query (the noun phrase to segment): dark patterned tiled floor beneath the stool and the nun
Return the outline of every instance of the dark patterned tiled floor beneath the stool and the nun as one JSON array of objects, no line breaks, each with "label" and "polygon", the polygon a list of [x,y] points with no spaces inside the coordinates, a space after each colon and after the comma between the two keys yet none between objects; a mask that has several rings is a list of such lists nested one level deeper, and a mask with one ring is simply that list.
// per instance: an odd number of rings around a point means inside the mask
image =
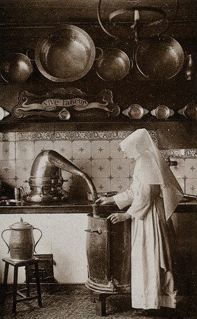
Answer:
[{"label": "dark patterned tiled floor beneath the stool and the nun", "polygon": [[96,316],[95,304],[89,299],[89,291],[85,285],[54,285],[42,286],[43,308],[39,308],[36,300],[17,304],[16,315],[12,314],[11,296],[6,299],[6,304],[1,306],[0,318],[20,319],[195,319],[197,309],[194,309],[194,300],[185,299],[175,313],[168,311],[154,311],[154,313],[138,314],[131,309],[128,295],[110,296],[106,299],[106,315]]}]

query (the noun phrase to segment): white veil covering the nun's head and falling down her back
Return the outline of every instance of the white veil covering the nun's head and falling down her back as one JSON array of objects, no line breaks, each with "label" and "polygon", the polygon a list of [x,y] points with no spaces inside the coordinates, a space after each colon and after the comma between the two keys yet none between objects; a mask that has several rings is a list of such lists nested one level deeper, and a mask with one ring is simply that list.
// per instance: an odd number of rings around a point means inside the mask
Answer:
[{"label": "white veil covering the nun's head and falling down her back", "polygon": [[128,157],[141,157],[140,176],[143,182],[161,185],[167,221],[182,199],[183,192],[160,150],[144,128],[131,133],[119,145]]}]

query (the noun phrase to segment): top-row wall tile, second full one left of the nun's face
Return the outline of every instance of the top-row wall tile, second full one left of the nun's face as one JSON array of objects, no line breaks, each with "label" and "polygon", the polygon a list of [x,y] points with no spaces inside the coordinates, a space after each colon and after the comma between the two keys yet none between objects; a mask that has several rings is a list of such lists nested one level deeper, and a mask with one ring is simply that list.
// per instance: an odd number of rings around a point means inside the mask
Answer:
[{"label": "top-row wall tile, second full one left of the nun's face", "polygon": [[90,141],[73,141],[73,158],[90,158],[91,142]]}]

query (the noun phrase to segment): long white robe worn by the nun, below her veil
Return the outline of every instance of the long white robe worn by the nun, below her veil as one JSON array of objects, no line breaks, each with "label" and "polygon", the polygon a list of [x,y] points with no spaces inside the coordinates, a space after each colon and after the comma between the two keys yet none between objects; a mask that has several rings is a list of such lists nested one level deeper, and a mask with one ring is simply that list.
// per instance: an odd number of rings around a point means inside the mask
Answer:
[{"label": "long white robe worn by the nun, below her veil", "polygon": [[160,185],[140,178],[140,160],[129,190],[114,196],[120,210],[130,205],[131,306],[136,309],[175,308],[176,290],[170,258],[168,228]]}]

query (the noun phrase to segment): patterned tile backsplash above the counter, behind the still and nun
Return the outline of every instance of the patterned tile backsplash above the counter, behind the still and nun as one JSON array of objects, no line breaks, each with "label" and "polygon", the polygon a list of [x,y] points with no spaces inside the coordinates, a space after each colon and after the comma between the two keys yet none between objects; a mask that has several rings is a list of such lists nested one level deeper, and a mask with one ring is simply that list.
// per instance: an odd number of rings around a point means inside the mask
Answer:
[{"label": "patterned tile backsplash above the counter, behind the still and nun", "polygon": [[[0,178],[11,187],[23,186],[29,191],[34,158],[41,150],[52,149],[71,160],[94,181],[98,192],[123,191],[132,181],[134,163],[125,159],[119,143],[130,131],[96,132],[8,132],[0,133]],[[157,132],[149,131],[157,143]],[[197,195],[197,150],[161,150],[164,157],[177,161],[171,169],[186,194]],[[85,182],[62,170],[68,179],[64,189],[71,187],[73,194],[84,196]]]}]

